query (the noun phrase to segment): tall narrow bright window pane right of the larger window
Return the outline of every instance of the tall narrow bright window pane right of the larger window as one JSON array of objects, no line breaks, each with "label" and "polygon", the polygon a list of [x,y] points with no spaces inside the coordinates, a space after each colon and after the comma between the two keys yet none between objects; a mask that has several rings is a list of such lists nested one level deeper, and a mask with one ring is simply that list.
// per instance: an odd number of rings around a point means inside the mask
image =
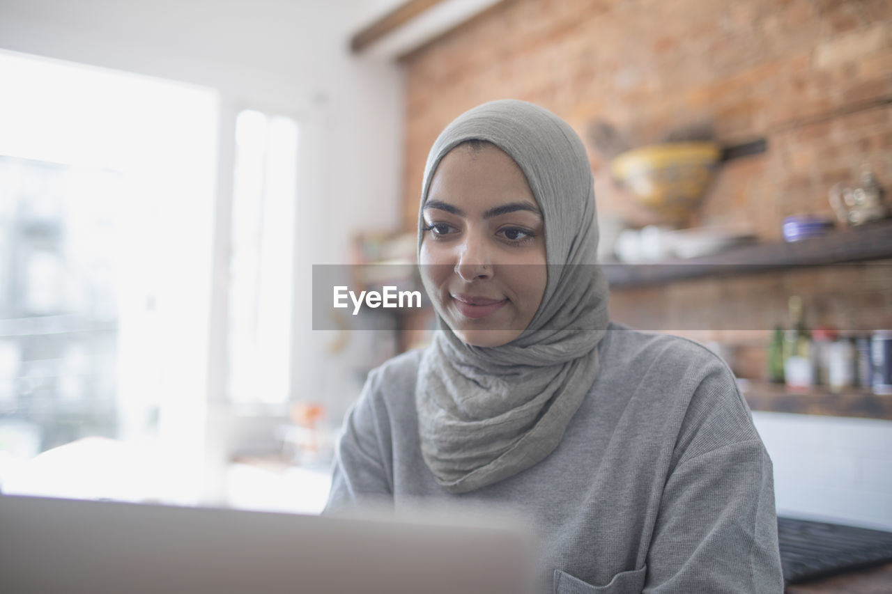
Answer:
[{"label": "tall narrow bright window pane right of the larger window", "polygon": [[228,399],[289,396],[298,128],[241,111],[235,120],[228,311]]}]

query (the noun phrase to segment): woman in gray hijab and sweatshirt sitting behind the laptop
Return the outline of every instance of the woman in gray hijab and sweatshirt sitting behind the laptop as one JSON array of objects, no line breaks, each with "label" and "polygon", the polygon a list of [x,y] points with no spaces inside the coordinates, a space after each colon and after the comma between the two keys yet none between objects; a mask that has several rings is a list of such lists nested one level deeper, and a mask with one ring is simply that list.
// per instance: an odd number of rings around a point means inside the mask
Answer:
[{"label": "woman in gray hijab and sweatshirt sitting behind the laptop", "polygon": [[439,330],[368,376],[327,508],[513,504],[556,592],[780,592],[747,405],[698,343],[609,322],[573,129],[531,103],[467,111],[431,149],[418,228]]}]

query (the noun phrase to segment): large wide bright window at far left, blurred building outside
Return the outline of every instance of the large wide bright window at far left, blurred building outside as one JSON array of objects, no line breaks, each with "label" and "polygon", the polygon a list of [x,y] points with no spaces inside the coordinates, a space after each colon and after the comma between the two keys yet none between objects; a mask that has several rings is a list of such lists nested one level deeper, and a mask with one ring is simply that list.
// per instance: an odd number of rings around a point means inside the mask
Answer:
[{"label": "large wide bright window at far left, blurred building outside", "polygon": [[217,93],[11,53],[0,79],[3,490],[194,501]]}]

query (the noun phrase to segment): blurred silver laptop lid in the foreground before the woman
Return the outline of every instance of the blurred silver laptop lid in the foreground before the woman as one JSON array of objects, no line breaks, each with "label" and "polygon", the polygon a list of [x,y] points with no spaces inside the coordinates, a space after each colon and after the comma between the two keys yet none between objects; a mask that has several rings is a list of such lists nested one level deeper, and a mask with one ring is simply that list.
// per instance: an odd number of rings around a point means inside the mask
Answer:
[{"label": "blurred silver laptop lid in the foreground before the woman", "polygon": [[532,590],[531,539],[481,516],[299,516],[0,496],[0,592]]}]

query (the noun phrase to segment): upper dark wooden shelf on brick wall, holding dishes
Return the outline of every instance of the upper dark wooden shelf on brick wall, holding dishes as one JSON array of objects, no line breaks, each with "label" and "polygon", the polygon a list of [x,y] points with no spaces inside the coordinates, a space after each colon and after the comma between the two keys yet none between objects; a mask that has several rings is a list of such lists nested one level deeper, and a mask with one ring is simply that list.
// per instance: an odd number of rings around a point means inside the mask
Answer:
[{"label": "upper dark wooden shelf on brick wall, holding dishes", "polygon": [[800,266],[892,258],[892,221],[834,231],[793,243],[755,243],[700,258],[654,264],[603,264],[611,289],[734,276]]}]

